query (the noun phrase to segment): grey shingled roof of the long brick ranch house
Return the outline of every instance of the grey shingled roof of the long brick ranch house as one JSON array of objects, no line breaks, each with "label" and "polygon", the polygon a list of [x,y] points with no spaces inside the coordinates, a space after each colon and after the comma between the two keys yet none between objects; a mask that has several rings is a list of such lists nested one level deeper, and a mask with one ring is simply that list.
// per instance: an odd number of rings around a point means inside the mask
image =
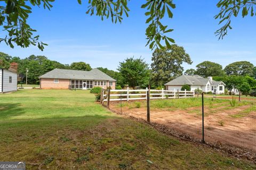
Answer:
[{"label": "grey shingled roof of the long brick ranch house", "polygon": [[54,69],[39,78],[116,81],[98,69],[92,69],[91,71]]}]

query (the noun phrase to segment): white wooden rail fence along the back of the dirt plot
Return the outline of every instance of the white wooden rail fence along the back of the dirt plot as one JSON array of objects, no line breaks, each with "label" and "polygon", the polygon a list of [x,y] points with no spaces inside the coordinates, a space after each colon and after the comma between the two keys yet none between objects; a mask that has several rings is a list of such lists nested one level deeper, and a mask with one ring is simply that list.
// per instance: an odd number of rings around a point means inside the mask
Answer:
[{"label": "white wooden rail fence along the back of the dirt plot", "polygon": [[[119,100],[143,100],[147,99],[147,89],[131,90],[129,88],[125,90],[110,90],[109,101]],[[102,90],[102,101],[107,101],[107,90]],[[150,99],[167,99],[167,98],[190,98],[195,97],[195,91],[179,91],[179,90],[151,90]]]}]

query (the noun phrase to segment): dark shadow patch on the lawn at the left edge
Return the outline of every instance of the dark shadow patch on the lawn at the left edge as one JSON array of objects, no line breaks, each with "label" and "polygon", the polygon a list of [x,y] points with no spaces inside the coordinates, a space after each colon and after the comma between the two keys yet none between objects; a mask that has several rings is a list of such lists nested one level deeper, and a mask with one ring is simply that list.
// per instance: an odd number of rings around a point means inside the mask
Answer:
[{"label": "dark shadow patch on the lawn at the left edge", "polygon": [[24,114],[25,111],[20,106],[20,103],[1,103],[0,120]]}]

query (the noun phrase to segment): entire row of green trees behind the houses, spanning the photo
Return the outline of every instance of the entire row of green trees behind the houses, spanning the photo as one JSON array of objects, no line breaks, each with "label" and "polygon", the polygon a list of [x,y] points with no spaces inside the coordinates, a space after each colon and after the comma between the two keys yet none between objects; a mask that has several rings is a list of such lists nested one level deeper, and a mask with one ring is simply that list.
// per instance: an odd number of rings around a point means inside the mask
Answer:
[{"label": "entire row of green trees behind the houses, spanning the photo", "polygon": [[[55,68],[90,71],[90,64],[76,62],[61,64],[51,61],[45,56],[31,55],[25,59],[12,57],[0,53],[0,67],[9,67],[9,64],[16,62],[19,64],[18,72],[26,75],[29,70],[28,82],[39,83],[38,77]],[[218,63],[210,61],[196,65],[196,70],[189,69],[184,72],[183,63],[192,64],[189,54],[178,45],[171,45],[169,48],[155,49],[151,58],[151,65],[147,64],[143,58],[126,58],[119,62],[117,71],[98,67],[99,70],[117,80],[117,86],[131,88],[146,88],[149,84],[151,88],[163,88],[164,84],[185,75],[201,75],[202,77],[212,76],[216,81],[223,81],[228,90],[239,89],[243,94],[256,93],[256,67],[247,61],[235,62],[227,65],[224,69]]]}]

